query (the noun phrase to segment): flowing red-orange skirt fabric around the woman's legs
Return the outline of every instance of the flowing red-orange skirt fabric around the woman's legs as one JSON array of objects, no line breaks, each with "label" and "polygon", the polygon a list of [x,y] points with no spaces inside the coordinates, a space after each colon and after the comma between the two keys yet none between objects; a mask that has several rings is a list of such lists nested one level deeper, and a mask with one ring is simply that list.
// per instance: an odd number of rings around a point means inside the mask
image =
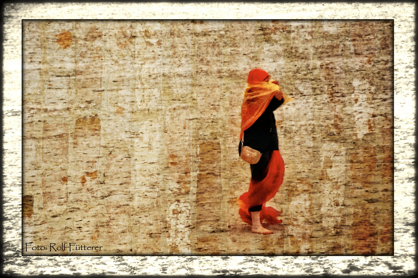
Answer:
[{"label": "flowing red-orange skirt fabric around the woman's legs", "polygon": [[270,161],[263,170],[262,175],[265,176],[263,180],[257,181],[251,179],[250,189],[248,192],[240,196],[240,215],[242,221],[252,225],[251,213],[248,211],[253,206],[263,204],[260,210],[260,221],[266,220],[270,224],[281,223],[282,220],[278,220],[280,211],[275,210],[272,207],[266,207],[265,203],[274,197],[279,190],[280,185],[283,183],[283,175],[285,172],[285,163],[280,151],[273,150],[270,156]]}]

